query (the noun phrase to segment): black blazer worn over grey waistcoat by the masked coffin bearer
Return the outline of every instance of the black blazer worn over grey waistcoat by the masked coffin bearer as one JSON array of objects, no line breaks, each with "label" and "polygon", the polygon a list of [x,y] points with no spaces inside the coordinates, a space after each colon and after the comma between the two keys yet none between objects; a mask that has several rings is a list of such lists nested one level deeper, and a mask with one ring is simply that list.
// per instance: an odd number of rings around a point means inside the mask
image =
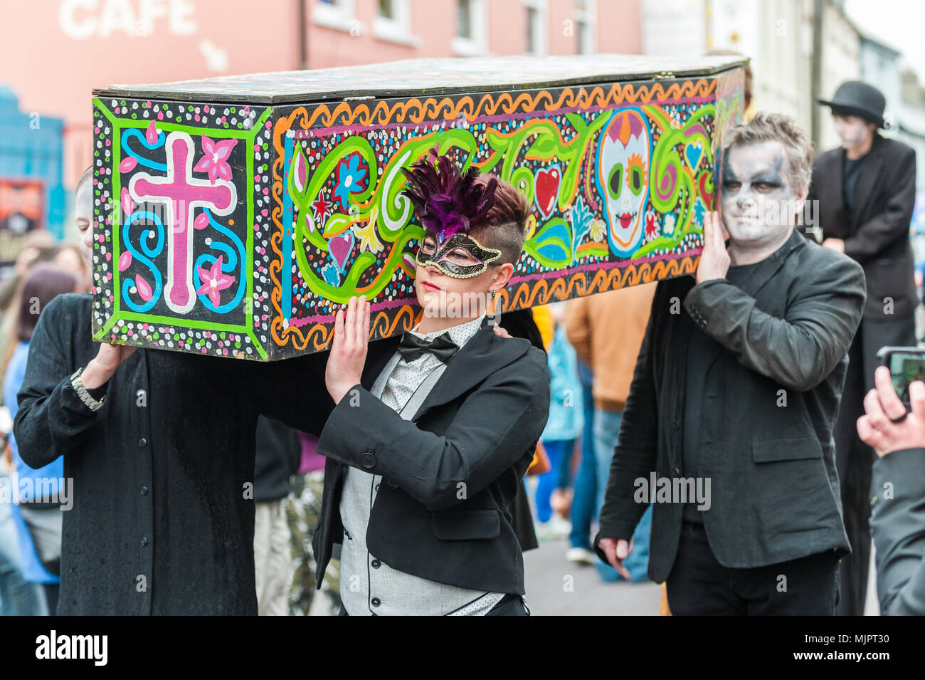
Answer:
[{"label": "black blazer worn over grey waistcoat by the masked coffin bearer", "polygon": [[376,558],[439,583],[523,594],[508,506],[546,427],[546,354],[483,326],[408,421],[368,391],[399,340],[369,346],[359,399],[339,402],[318,441],[327,464],[312,541],[317,583],[343,539],[340,490],[352,465],[384,477],[366,531]]}]

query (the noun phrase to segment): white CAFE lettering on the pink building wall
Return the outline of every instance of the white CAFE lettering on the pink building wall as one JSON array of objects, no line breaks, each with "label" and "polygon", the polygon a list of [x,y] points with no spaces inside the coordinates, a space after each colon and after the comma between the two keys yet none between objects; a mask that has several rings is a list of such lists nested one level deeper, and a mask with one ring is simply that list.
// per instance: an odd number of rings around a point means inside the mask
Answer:
[{"label": "white CAFE lettering on the pink building wall", "polygon": [[195,11],[191,0],[61,0],[58,26],[74,40],[148,36],[165,22],[173,35],[192,35],[199,29]]}]

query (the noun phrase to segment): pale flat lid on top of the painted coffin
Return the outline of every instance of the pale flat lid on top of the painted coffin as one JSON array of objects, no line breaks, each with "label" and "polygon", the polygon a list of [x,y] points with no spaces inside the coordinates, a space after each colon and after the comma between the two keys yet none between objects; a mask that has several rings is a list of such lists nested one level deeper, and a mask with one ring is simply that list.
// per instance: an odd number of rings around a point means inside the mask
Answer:
[{"label": "pale flat lid on top of the painted coffin", "polygon": [[745,66],[746,56],[569,55],[401,59],[378,64],[251,73],[199,80],[117,84],[101,97],[248,104],[306,104],[353,97],[520,90],[574,84],[709,76]]}]

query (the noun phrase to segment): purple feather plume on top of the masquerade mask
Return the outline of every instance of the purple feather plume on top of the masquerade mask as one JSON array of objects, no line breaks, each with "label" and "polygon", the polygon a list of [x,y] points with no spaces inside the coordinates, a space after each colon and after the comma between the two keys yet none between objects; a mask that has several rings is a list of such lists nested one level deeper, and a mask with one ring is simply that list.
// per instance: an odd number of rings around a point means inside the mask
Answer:
[{"label": "purple feather plume on top of the masquerade mask", "polygon": [[449,155],[438,156],[436,167],[433,157],[431,151],[410,168],[401,168],[409,184],[404,192],[424,229],[433,234],[442,231],[444,238],[449,238],[457,231],[467,233],[486,222],[488,211],[495,204],[498,179],[476,182],[479,173],[475,167],[463,175]]}]

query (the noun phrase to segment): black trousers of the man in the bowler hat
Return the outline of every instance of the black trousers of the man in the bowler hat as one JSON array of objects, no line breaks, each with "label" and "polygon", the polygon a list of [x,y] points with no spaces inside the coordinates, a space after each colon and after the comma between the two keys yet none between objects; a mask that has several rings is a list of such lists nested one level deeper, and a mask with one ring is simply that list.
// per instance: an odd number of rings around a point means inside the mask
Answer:
[{"label": "black trousers of the man in the bowler hat", "polygon": [[845,389],[833,432],[842,518],[851,544],[851,554],[839,566],[841,597],[835,613],[840,616],[864,614],[870,571],[870,475],[875,454],[857,438],[857,418],[864,414],[864,395],[873,388],[880,348],[915,344],[914,316],[888,321],[864,319],[848,351]]}]

